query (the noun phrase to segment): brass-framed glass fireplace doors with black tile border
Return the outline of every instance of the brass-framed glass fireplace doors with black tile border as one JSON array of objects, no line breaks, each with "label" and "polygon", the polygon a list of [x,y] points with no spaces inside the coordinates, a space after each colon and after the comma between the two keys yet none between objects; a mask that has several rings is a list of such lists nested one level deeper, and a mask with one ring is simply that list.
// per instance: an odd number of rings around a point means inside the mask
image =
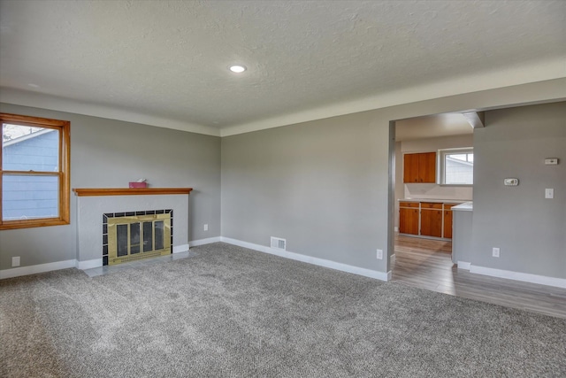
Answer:
[{"label": "brass-framed glass fireplace doors with black tile border", "polygon": [[103,265],[172,253],[173,211],[103,214]]}]

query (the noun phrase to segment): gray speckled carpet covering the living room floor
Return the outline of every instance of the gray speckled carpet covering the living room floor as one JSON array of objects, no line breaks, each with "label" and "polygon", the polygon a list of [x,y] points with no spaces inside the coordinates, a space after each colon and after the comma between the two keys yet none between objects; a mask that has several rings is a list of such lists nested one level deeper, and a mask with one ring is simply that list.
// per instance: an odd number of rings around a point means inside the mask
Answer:
[{"label": "gray speckled carpet covering the living room floor", "polygon": [[566,320],[225,243],[191,251],[0,281],[0,376],[566,376]]}]

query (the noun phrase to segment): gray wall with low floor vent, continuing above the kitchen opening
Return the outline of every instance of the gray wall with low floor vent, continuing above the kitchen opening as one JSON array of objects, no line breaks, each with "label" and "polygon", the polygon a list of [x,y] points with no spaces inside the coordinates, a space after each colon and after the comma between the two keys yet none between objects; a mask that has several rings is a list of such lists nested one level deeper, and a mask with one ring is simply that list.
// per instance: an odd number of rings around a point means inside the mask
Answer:
[{"label": "gray wall with low floor vent, continuing above the kitchen opening", "polygon": [[564,98],[564,83],[493,89],[224,137],[222,235],[263,246],[270,236],[283,237],[287,251],[387,272],[388,261],[378,260],[376,249],[384,256],[393,249],[389,121]]}]

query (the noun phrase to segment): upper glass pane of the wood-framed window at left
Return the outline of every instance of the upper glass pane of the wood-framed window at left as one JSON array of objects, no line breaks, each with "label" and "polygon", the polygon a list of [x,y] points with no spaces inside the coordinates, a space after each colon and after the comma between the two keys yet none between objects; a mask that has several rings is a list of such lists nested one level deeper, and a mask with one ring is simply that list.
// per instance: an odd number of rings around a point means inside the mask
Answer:
[{"label": "upper glass pane of the wood-framed window at left", "polygon": [[4,171],[59,171],[59,130],[2,125]]}]

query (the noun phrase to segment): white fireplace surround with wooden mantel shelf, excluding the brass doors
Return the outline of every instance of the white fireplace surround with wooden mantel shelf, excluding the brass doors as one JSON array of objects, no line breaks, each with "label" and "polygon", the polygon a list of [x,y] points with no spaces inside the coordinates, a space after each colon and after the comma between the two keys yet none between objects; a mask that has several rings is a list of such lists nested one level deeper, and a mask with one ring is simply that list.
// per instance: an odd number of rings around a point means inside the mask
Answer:
[{"label": "white fireplace surround with wooden mantel shelf, excluding the brass doors", "polygon": [[77,261],[80,269],[103,266],[103,214],[172,209],[172,252],[188,251],[191,189],[73,189],[77,198]]}]

